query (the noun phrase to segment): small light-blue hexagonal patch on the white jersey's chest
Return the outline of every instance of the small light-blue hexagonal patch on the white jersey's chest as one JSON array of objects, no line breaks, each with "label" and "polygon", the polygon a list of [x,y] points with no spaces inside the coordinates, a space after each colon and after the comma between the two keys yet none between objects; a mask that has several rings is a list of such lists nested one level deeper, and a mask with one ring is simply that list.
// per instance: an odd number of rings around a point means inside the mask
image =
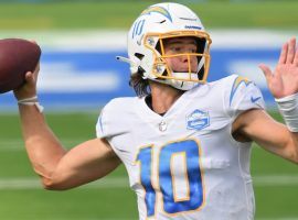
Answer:
[{"label": "small light-blue hexagonal patch on the white jersey's chest", "polygon": [[195,109],[187,116],[187,129],[202,130],[210,125],[210,117],[207,111]]}]

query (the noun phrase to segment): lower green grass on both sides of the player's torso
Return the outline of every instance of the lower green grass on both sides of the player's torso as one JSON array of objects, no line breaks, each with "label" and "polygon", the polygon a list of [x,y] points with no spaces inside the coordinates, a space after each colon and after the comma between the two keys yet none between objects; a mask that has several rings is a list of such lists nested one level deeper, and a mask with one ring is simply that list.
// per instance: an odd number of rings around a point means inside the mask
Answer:
[{"label": "lower green grass on both sides of the player's torso", "polygon": [[[276,119],[280,120],[274,113]],[[72,147],[95,136],[97,112],[46,113],[63,144]],[[31,170],[23,150],[19,118],[0,113],[0,219],[131,220],[137,205],[124,166],[104,180],[68,191],[46,191]],[[297,165],[257,146],[252,155],[257,220],[298,219]]]}]

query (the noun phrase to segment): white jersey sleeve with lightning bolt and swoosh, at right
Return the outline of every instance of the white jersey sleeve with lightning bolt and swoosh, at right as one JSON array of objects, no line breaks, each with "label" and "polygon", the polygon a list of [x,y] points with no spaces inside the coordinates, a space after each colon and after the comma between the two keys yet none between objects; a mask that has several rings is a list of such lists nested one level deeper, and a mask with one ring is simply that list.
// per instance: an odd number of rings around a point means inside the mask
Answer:
[{"label": "white jersey sleeve with lightning bolt and swoosh, at right", "polygon": [[249,109],[265,109],[263,95],[253,81],[234,75],[227,85],[224,103],[232,118]]}]

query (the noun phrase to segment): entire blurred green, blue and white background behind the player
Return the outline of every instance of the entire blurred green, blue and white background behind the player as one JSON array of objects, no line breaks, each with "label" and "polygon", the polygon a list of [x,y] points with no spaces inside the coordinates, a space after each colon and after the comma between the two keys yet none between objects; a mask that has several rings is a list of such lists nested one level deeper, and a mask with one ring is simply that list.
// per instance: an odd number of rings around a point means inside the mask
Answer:
[{"label": "entire blurred green, blue and white background behind the player", "polygon": [[[125,33],[147,6],[158,1],[0,1],[0,37],[36,40],[43,50],[40,99],[46,120],[65,147],[95,135],[100,107],[113,97],[132,96],[125,55]],[[212,34],[210,80],[232,73],[254,79],[277,117],[256,65],[270,66],[288,37],[298,36],[298,2],[179,1],[196,11]],[[0,219],[137,219],[126,172],[68,191],[45,191],[31,170],[12,95],[0,96]],[[268,131],[269,132],[269,131]],[[256,219],[298,219],[298,172],[255,146],[252,173]]]}]

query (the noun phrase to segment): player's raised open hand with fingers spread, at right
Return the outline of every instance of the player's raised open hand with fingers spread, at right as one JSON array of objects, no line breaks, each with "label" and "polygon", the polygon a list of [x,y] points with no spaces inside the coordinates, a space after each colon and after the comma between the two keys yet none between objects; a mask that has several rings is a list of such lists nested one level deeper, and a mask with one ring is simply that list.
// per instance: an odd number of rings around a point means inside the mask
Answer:
[{"label": "player's raised open hand with fingers spread, at right", "polygon": [[298,92],[298,46],[296,37],[284,44],[278,64],[274,72],[260,64],[268,88],[275,98],[283,98]]}]

